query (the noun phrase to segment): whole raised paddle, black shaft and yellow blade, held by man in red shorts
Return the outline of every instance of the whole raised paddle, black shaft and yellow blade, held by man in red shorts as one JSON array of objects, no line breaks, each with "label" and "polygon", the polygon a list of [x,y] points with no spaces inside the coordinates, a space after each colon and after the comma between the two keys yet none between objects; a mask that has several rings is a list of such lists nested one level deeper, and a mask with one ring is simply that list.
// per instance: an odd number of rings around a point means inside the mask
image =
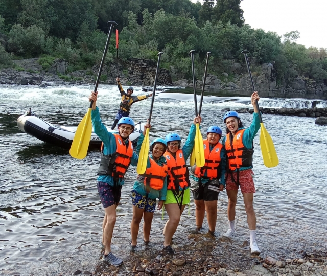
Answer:
[{"label": "whole raised paddle, black shaft and yellow blade, held by man in red shorts", "polygon": [[[247,53],[249,51],[244,50],[241,52],[241,54],[244,54],[246,65],[247,65],[247,71],[249,72],[250,80],[251,80],[251,85],[252,85],[252,90],[253,92],[255,91],[254,88],[254,83],[253,83],[253,78],[251,75],[251,70],[250,70],[250,63],[247,58]],[[259,119],[260,119],[260,125],[261,125],[261,131],[260,131],[260,148],[261,148],[261,153],[262,153],[262,158],[264,160],[264,164],[266,167],[271,168],[275,167],[278,165],[279,160],[277,157],[277,153],[275,150],[274,143],[272,142],[272,139],[266,130],[264,123],[262,121],[260,109],[259,109],[259,104],[258,101],[255,101],[256,108],[258,109],[258,114],[259,114]]]}]

